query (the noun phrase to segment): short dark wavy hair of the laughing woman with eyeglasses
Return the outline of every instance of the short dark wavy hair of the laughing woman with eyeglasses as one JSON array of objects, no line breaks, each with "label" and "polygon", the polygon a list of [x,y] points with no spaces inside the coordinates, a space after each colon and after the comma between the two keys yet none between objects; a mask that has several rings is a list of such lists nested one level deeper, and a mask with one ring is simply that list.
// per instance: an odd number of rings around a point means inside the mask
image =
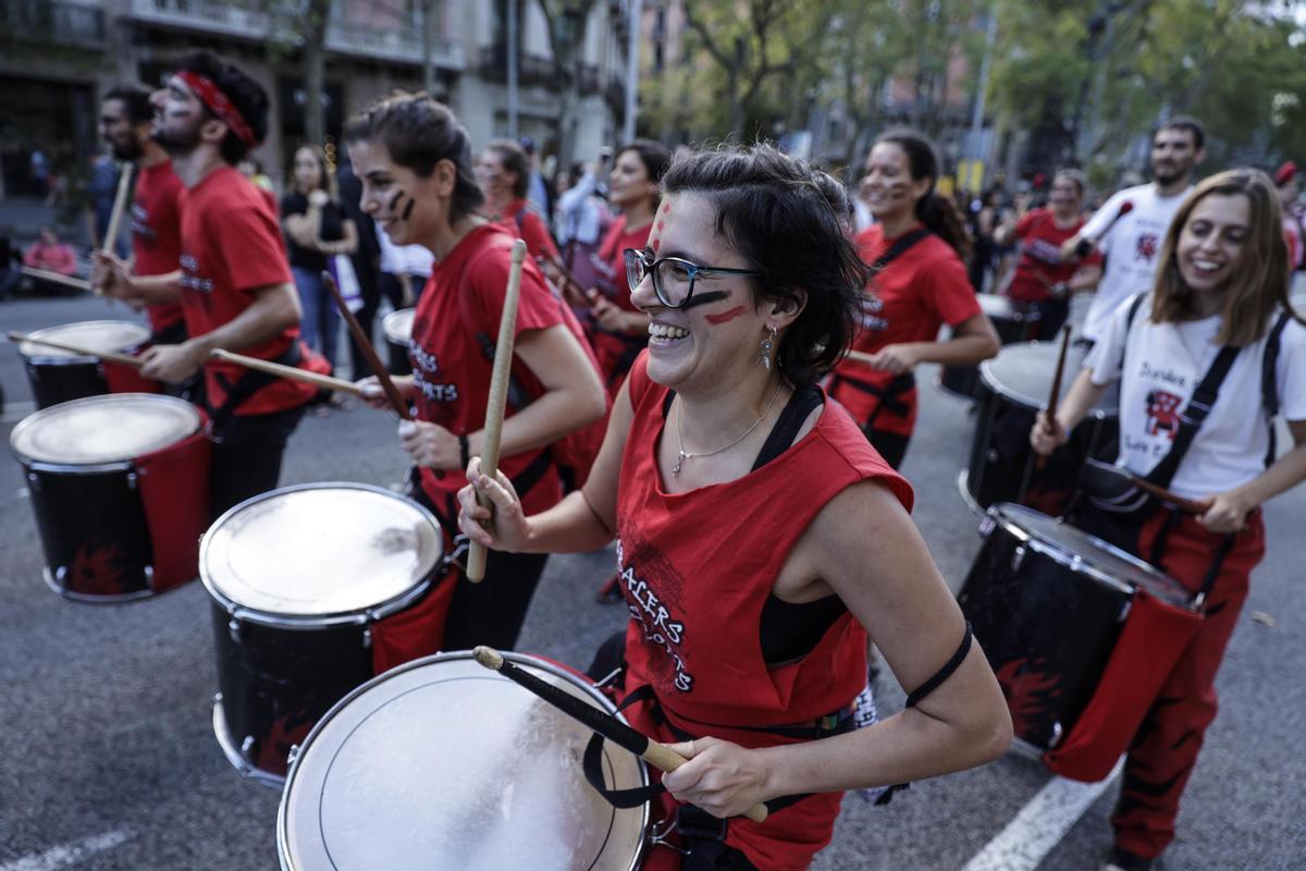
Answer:
[{"label": "short dark wavy hair of the laughing woman with eyeglasses", "polygon": [[776,353],[780,373],[801,387],[829,371],[853,341],[868,278],[840,225],[842,188],[806,161],[759,144],[684,154],[662,176],[662,191],[712,200],[717,234],[760,273],[755,303],[802,306]]}]

